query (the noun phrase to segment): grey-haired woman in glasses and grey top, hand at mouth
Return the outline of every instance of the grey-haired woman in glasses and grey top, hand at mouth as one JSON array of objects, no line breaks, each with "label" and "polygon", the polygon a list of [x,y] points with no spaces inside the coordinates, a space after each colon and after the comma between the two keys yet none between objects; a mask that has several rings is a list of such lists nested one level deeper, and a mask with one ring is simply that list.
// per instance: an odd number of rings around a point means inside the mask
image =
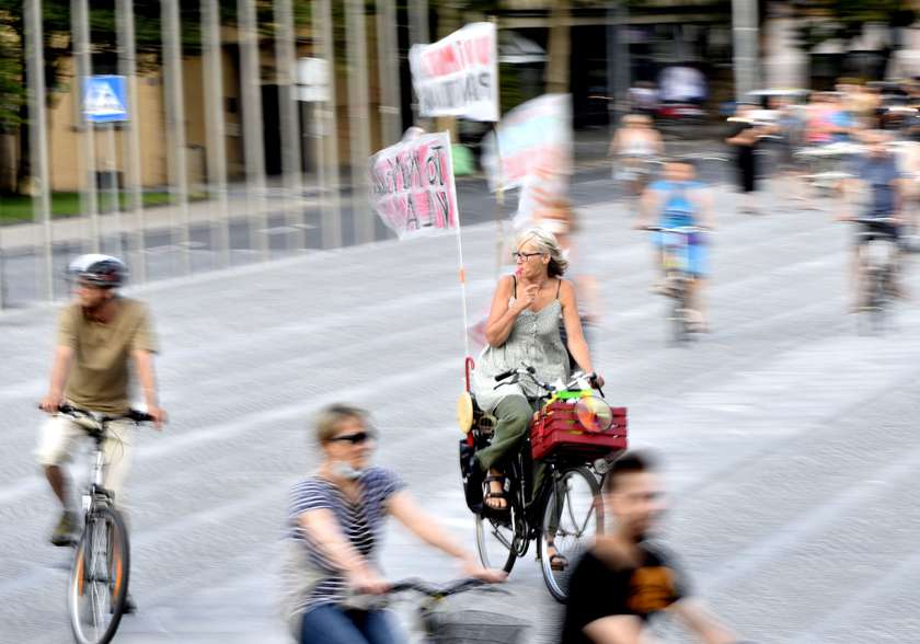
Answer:
[{"label": "grey-haired woman in glasses and grey top, hand at mouth", "polygon": [[[586,373],[594,372],[590,352],[578,319],[575,289],[562,279],[568,263],[555,237],[542,228],[524,231],[514,253],[517,269],[498,280],[485,326],[488,346],[473,372],[472,388],[476,403],[495,416],[492,444],[476,453],[485,478],[484,503],[492,510],[505,510],[503,461],[520,449],[533,415],[531,400],[542,392],[528,380],[503,384],[495,376],[521,364],[533,367],[544,382],[568,380],[568,353]],[[567,346],[560,334],[564,323]],[[566,353],[566,348],[568,353]],[[597,383],[603,386],[598,376]],[[534,490],[539,488],[534,472]]]}]

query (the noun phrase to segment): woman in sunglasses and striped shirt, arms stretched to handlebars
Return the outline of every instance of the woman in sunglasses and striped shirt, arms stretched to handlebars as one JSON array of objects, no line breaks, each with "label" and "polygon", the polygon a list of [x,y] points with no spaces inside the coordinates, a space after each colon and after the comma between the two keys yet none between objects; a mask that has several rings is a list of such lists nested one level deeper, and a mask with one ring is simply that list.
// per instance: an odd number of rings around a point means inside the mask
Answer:
[{"label": "woman in sunglasses and striped shirt, arms stretched to handlebars", "polygon": [[323,461],[315,474],[294,486],[288,514],[283,610],[298,642],[400,641],[386,611],[355,603],[356,594],[388,588],[376,557],[388,515],[458,559],[464,574],[490,583],[505,578],[483,568],[422,511],[394,472],[370,464],[376,434],[366,412],[342,404],[326,407],[317,419],[317,441]]}]

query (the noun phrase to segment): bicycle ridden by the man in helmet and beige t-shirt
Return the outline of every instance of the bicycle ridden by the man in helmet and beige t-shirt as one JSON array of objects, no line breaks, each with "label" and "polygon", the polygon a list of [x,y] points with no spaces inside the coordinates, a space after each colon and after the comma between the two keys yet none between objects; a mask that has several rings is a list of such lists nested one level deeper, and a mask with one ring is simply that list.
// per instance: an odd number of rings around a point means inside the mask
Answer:
[{"label": "bicycle ridden by the man in helmet and beige t-shirt", "polygon": [[115,508],[114,494],[103,484],[106,428],[114,421],[146,423],[153,418],[134,410],[123,416],[106,416],[71,405],[61,405],[58,411],[85,429],[95,446],[90,483],[82,497],[83,532],[70,573],[70,625],[80,644],[106,644],[115,636],[125,612],[130,574],[128,531]]}]

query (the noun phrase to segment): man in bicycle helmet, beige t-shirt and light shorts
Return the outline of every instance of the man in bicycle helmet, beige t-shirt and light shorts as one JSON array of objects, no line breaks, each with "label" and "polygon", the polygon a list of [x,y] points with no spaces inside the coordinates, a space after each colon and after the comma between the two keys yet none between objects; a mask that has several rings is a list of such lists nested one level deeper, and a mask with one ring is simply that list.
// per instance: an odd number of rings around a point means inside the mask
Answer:
[{"label": "man in bicycle helmet, beige t-shirt and light shorts", "polygon": [[[68,416],[57,413],[67,402],[76,407],[117,416],[129,409],[129,363],[134,364],[148,413],[159,428],[166,414],[157,398],[152,354],[157,350],[147,307],[120,297],[127,269],[117,257],[81,255],[68,267],[76,299],[58,322],[54,363],[43,411],[51,414],[41,428],[36,456],[62,513],[51,533],[51,543],[68,545],[79,530],[72,510],[69,483],[61,465],[69,459],[84,432]],[[131,421],[108,425],[103,451],[105,486],[124,505],[123,484],[131,456]]]}]

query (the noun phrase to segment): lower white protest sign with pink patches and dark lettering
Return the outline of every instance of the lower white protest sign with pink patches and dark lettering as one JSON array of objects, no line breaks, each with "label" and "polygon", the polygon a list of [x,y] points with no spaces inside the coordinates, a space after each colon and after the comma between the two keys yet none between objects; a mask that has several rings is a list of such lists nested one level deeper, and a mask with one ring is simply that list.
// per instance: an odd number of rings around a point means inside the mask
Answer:
[{"label": "lower white protest sign with pink patches and dark lettering", "polygon": [[400,239],[460,226],[450,135],[421,135],[370,158],[373,209]]}]

